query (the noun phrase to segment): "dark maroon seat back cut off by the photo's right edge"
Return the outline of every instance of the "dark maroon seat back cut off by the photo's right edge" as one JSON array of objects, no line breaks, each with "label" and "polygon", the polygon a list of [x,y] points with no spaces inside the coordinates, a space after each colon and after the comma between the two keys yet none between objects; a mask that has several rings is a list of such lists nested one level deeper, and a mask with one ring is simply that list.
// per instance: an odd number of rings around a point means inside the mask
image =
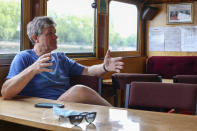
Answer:
[{"label": "dark maroon seat back cut off by the photo's right edge", "polygon": [[174,83],[197,84],[197,75],[176,75],[173,81]]}]

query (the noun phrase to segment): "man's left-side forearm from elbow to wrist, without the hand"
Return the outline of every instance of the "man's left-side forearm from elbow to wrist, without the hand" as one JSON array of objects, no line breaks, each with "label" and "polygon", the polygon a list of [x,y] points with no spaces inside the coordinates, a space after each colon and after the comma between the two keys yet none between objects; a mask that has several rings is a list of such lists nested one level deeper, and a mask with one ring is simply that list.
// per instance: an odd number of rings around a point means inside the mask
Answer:
[{"label": "man's left-side forearm from elbow to wrist, without the hand", "polygon": [[34,75],[35,72],[33,72],[30,66],[13,78],[6,80],[1,89],[1,94],[3,98],[11,99],[15,97],[18,93],[22,91],[22,89],[34,77]]}]

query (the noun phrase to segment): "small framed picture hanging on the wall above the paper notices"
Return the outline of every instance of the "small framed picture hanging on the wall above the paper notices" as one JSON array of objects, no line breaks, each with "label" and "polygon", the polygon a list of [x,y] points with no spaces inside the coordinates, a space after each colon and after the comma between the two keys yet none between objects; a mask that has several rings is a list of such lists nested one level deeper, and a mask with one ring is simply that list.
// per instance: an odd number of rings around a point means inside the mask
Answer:
[{"label": "small framed picture hanging on the wall above the paper notices", "polygon": [[167,23],[193,23],[193,4],[167,4]]}]

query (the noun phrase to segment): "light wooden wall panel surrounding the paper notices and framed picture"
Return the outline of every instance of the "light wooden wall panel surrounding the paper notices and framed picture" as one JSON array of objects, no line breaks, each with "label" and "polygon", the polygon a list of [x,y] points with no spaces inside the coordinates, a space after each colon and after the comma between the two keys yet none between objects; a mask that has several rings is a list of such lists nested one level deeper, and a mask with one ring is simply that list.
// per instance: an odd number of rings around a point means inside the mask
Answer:
[{"label": "light wooden wall panel surrounding the paper notices and framed picture", "polygon": [[[150,27],[171,27],[171,26],[196,26],[197,25],[197,2],[194,3],[194,22],[193,24],[167,24],[167,14],[166,14],[166,6],[167,4],[151,4],[150,6],[158,7],[159,13],[155,16],[155,18],[151,21],[147,21],[147,33],[146,33],[146,43],[147,47],[149,47],[149,28]],[[151,52],[149,48],[147,48],[147,55],[150,56],[197,56],[197,52]]]}]

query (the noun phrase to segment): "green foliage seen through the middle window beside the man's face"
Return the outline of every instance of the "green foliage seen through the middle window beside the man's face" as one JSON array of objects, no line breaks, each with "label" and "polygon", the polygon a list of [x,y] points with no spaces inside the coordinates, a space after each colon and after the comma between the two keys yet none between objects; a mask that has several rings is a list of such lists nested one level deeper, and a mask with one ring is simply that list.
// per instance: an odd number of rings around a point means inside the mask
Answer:
[{"label": "green foliage seen through the middle window beside the man's face", "polygon": [[91,45],[93,42],[93,31],[91,19],[87,17],[67,16],[57,18],[57,35],[60,43],[78,42],[82,45]]}]

